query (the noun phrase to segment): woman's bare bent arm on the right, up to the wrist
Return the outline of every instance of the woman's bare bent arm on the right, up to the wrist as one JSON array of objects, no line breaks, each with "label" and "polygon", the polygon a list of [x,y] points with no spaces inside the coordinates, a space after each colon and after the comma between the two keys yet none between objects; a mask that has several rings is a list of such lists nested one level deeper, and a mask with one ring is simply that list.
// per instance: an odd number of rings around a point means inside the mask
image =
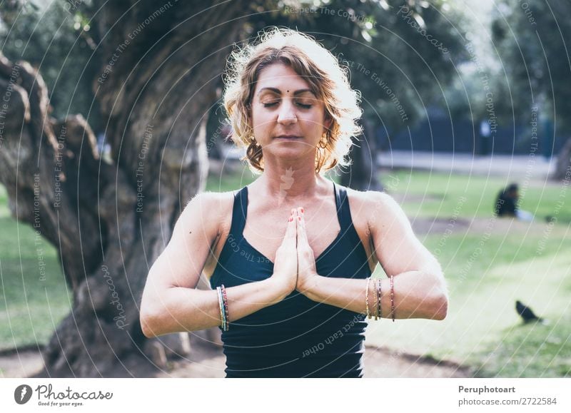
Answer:
[{"label": "woman's bare bent arm on the right, up to the wrist", "polygon": [[[438,261],[416,238],[408,218],[393,198],[384,193],[370,193],[370,196],[370,210],[374,214],[369,220],[370,235],[383,269],[389,277],[394,276],[395,318],[443,320],[448,310],[448,293]],[[298,228],[298,250],[299,233]],[[301,248],[309,254],[307,248]],[[313,258],[310,248],[309,251]],[[299,260],[300,265],[302,261],[308,262],[308,258],[300,257]],[[316,274],[300,277],[300,280],[305,282],[298,282],[298,290],[311,300],[362,314],[366,312],[366,280]],[[375,292],[373,282],[370,284],[369,308],[372,312]],[[390,317],[390,279],[381,281],[381,292],[381,317]]]}]

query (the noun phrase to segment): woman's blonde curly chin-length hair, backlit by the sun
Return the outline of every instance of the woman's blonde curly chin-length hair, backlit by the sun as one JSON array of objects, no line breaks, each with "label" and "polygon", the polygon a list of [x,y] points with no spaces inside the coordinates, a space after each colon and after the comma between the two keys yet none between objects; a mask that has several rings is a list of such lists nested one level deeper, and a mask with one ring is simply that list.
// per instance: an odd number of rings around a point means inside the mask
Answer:
[{"label": "woman's blonde curly chin-length hair, backlit by the sun", "polygon": [[348,68],[340,66],[333,53],[310,36],[277,27],[262,32],[257,44],[234,51],[228,59],[224,107],[232,126],[232,141],[246,148],[243,160],[253,173],[263,172],[262,148],[253,136],[250,108],[261,70],[274,63],[284,63],[302,76],[323,101],[325,118],[332,121],[325,141],[320,140],[316,147],[315,172],[349,165],[351,137],[361,133],[357,121],[362,111],[360,93],[350,87]]}]

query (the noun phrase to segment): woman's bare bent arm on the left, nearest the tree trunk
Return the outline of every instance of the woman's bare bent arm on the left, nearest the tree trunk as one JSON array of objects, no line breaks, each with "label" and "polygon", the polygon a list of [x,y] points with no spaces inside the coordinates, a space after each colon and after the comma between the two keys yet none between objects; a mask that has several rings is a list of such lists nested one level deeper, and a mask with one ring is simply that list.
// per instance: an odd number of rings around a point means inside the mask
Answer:
[{"label": "woman's bare bent arm on the left, nearest the tree trunk", "polygon": [[[203,193],[188,203],[166,249],[153,263],[141,300],[141,327],[146,337],[221,325],[216,290],[196,290],[218,235],[221,222],[218,196]],[[295,249],[295,229],[290,238]],[[277,259],[276,255],[276,262]],[[293,287],[283,277],[273,276],[227,288],[230,322],[283,300],[291,290]]]}]

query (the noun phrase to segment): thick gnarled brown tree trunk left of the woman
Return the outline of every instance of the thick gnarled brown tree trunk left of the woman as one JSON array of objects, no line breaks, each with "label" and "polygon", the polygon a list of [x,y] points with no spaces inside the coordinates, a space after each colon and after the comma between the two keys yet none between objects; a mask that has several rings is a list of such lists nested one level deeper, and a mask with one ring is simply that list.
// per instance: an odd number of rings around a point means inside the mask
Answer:
[{"label": "thick gnarled brown tree trunk left of the woman", "polygon": [[49,116],[34,68],[0,54],[9,97],[0,106],[0,180],[11,213],[59,250],[74,295],[44,350],[44,375],[148,377],[163,367],[153,362],[163,360],[158,342],[188,349],[188,335],[178,345],[146,340],[138,307],[149,268],[206,181],[206,108],[247,4],[93,3],[94,93],[113,163],[101,161],[81,115]]}]

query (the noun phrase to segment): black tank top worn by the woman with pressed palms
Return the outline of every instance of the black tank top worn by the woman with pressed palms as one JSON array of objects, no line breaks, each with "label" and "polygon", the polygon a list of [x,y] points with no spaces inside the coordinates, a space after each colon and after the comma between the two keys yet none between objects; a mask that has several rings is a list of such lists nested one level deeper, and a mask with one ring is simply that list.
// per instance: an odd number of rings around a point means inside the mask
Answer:
[{"label": "black tank top worn by the woman with pressed palms", "polygon": [[[315,260],[325,277],[371,275],[365,248],[351,220],[345,188],[333,183],[340,232]],[[265,280],[268,260],[243,237],[248,187],[234,195],[232,224],[211,277],[226,288]],[[363,289],[363,299],[364,299]],[[276,305],[230,323],[222,332],[226,377],[363,377],[365,315],[315,302],[293,291]]]}]

